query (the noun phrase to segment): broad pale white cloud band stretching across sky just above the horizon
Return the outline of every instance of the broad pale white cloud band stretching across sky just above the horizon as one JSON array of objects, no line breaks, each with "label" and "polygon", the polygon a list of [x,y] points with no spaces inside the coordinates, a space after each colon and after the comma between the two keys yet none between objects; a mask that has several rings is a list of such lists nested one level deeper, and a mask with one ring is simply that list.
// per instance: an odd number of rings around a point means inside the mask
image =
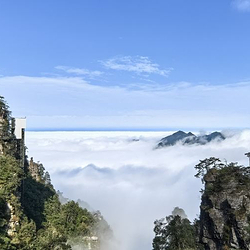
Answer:
[{"label": "broad pale white cloud band stretching across sky just above the horizon", "polygon": [[97,86],[80,77],[1,77],[0,93],[29,128],[244,128],[250,82]]}]

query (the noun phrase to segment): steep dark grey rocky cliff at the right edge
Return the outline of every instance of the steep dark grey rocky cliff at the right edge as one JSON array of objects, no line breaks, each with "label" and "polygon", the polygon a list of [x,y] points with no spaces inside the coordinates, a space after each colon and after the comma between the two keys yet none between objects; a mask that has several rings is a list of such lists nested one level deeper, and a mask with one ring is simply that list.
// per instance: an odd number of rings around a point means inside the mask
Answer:
[{"label": "steep dark grey rocky cliff at the right edge", "polygon": [[250,249],[249,171],[229,164],[204,176],[200,241],[205,249]]}]

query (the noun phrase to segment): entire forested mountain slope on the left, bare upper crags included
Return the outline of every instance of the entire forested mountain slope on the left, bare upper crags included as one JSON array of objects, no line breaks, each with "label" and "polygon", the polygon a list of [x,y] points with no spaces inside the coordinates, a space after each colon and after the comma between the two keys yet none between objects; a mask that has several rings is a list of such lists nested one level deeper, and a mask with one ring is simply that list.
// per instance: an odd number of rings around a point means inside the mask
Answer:
[{"label": "entire forested mountain slope on the left, bare upper crags included", "polygon": [[112,231],[101,214],[61,204],[49,173],[28,160],[14,131],[0,97],[0,249],[102,249]]}]

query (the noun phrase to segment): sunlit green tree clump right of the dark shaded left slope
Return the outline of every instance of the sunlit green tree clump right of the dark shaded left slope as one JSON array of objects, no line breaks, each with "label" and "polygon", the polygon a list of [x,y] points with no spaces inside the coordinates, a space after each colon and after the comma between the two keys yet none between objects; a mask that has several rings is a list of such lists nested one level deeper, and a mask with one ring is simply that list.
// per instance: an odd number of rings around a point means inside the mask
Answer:
[{"label": "sunlit green tree clump right of the dark shaded left slope", "polygon": [[38,231],[38,245],[45,249],[52,246],[70,249],[67,240],[84,244],[84,237],[92,234],[95,223],[93,215],[76,202],[61,205],[58,195],[45,202],[44,218],[43,227]]}]

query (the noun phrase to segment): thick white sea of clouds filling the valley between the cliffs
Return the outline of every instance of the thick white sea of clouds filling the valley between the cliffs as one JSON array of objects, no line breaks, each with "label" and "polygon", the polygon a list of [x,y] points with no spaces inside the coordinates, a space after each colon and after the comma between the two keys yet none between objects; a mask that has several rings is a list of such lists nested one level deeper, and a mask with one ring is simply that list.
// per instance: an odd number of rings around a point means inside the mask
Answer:
[{"label": "thick white sea of clouds filling the valley between the cliffs", "polygon": [[225,133],[223,142],[155,149],[171,132],[27,132],[26,145],[65,197],[102,212],[118,250],[150,250],[154,220],[176,206],[190,220],[199,214],[199,160],[215,156],[248,165],[250,130]]}]

